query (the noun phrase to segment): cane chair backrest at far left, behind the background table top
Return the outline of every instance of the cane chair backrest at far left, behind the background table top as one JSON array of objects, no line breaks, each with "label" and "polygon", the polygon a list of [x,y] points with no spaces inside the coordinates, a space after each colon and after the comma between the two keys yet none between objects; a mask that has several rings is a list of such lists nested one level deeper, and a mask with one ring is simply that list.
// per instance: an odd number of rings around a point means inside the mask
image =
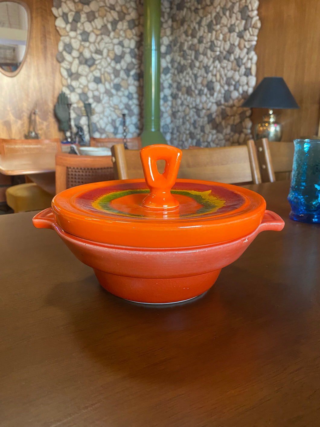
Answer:
[{"label": "cane chair backrest at far left, behind the background table top", "polygon": [[0,154],[61,152],[59,138],[52,139],[3,139],[0,138]]}]

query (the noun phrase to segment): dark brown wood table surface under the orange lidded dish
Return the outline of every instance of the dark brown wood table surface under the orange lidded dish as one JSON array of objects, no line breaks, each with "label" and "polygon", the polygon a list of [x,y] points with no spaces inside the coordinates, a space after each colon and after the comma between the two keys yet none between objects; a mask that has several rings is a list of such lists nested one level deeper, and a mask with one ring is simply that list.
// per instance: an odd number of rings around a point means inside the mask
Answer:
[{"label": "dark brown wood table surface under the orange lidded dish", "polygon": [[198,300],[103,290],[33,213],[0,216],[1,427],[320,425],[320,228],[279,213]]}]

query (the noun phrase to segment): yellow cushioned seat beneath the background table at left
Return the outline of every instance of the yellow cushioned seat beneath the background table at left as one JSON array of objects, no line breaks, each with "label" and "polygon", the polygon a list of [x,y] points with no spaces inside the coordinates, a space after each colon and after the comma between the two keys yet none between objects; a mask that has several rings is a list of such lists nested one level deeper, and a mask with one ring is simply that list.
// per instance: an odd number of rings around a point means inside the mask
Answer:
[{"label": "yellow cushioned seat beneath the background table at left", "polygon": [[52,197],[34,182],[13,185],[6,190],[7,204],[15,212],[40,211],[50,208]]}]

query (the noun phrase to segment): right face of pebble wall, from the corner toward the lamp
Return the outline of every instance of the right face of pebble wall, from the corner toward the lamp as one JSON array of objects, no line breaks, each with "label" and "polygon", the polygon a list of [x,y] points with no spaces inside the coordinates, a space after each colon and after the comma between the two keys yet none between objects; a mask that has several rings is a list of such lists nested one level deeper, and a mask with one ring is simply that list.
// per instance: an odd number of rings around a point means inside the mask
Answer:
[{"label": "right face of pebble wall, from the corner toward the lamp", "polygon": [[256,85],[258,0],[173,0],[172,140],[187,148],[244,143]]}]

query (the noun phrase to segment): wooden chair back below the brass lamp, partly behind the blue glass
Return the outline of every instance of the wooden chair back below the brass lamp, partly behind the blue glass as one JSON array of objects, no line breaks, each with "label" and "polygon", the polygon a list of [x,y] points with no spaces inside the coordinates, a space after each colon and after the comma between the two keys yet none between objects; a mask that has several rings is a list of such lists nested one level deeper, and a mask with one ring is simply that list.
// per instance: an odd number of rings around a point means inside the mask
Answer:
[{"label": "wooden chair back below the brass lamp, partly behind the blue glass", "polygon": [[262,138],[256,141],[256,147],[263,182],[291,179],[294,158],[293,142],[275,142]]}]

